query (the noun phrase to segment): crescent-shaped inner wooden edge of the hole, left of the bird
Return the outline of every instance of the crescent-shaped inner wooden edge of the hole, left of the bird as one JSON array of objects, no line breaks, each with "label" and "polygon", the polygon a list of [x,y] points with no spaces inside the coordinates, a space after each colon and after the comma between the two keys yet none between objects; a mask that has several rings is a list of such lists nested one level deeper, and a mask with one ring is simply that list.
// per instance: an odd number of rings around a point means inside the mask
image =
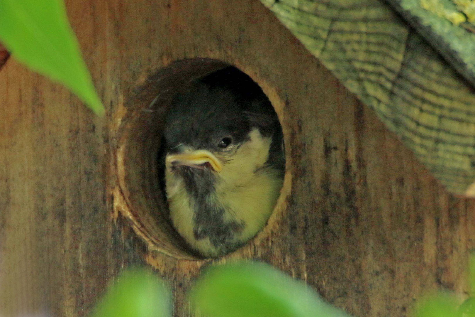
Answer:
[{"label": "crescent-shaped inner wooden edge of the hole, left of the bird", "polygon": [[[192,82],[230,65],[212,59],[190,59],[171,63],[149,77],[126,102],[116,148],[119,190],[114,202],[148,244],[177,259],[203,259],[177,233],[163,188],[165,115],[177,93]],[[262,229],[262,228],[261,228]]]}]

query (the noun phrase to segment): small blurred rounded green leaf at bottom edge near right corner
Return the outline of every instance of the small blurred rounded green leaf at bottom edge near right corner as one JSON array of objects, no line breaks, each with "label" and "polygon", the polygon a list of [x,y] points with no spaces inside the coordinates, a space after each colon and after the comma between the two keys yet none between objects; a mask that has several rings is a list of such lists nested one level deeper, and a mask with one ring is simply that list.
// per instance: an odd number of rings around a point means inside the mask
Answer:
[{"label": "small blurred rounded green leaf at bottom edge near right corner", "polygon": [[446,293],[440,293],[422,300],[416,309],[416,317],[456,317],[457,301]]}]

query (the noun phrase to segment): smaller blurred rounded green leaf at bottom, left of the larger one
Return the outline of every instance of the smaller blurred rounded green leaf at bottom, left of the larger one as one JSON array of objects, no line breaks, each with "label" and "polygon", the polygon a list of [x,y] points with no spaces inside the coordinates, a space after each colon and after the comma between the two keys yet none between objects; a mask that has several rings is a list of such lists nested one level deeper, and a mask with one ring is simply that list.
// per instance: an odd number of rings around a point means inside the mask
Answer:
[{"label": "smaller blurred rounded green leaf at bottom, left of the larger one", "polygon": [[171,293],[144,269],[129,269],[111,285],[92,317],[170,317]]}]

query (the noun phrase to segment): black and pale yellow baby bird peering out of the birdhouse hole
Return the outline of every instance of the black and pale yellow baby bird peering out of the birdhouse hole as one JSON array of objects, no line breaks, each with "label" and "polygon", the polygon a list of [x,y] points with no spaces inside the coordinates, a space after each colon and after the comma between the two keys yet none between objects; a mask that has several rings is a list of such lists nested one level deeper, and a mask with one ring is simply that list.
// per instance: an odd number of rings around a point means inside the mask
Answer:
[{"label": "black and pale yellow baby bird peering out of the birdhouse hole", "polygon": [[269,218],[284,178],[282,130],[261,88],[236,67],[195,80],[166,115],[170,218],[192,249],[218,257]]}]

